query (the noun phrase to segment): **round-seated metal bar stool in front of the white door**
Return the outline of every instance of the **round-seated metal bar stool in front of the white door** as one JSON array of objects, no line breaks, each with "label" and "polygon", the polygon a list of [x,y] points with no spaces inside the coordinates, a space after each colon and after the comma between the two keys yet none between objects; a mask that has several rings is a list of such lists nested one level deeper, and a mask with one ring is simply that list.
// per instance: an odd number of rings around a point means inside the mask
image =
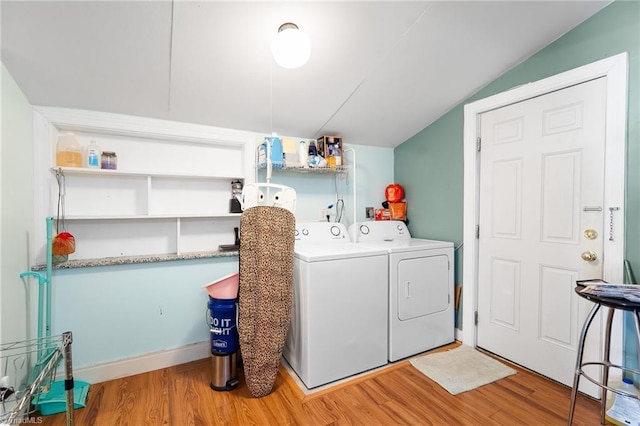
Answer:
[{"label": "round-seated metal bar stool in front of the white door", "polygon": [[[584,322],[584,326],[582,327],[582,333],[580,334],[580,342],[578,343],[578,357],[576,359],[576,371],[573,377],[573,389],[571,390],[571,408],[569,409],[569,425],[573,422],[573,412],[576,406],[576,397],[578,395],[578,384],[580,382],[580,376],[584,376],[587,380],[594,383],[597,386],[602,388],[602,399],[600,401],[601,404],[601,413],[600,413],[600,423],[605,424],[605,410],[607,403],[607,391],[614,392],[619,395],[628,396],[634,399],[639,399],[636,395],[632,395],[626,393],[624,391],[613,389],[608,386],[609,382],[609,368],[618,368],[622,371],[630,371],[634,374],[640,374],[640,371],[634,370],[632,368],[623,367],[621,365],[612,364],[609,360],[609,353],[611,349],[611,325],[613,324],[613,314],[616,309],[633,312],[633,320],[636,329],[636,338],[640,343],[640,303],[631,302],[627,299],[623,298],[611,298],[611,297],[601,297],[601,296],[593,296],[591,294],[581,293],[584,286],[578,286],[575,288],[575,292],[584,297],[587,300],[595,303],[591,312],[587,316],[587,319]],[[609,313],[607,315],[607,325],[605,329],[604,335],[604,357],[602,361],[595,362],[582,362],[582,356],[584,352],[584,342],[587,337],[587,332],[589,331],[589,326],[591,322],[595,318],[596,314],[600,310],[601,306],[606,306],[609,308]],[[600,365],[602,366],[602,382],[595,380],[590,377],[587,373],[585,373],[582,367],[587,365]]]}]

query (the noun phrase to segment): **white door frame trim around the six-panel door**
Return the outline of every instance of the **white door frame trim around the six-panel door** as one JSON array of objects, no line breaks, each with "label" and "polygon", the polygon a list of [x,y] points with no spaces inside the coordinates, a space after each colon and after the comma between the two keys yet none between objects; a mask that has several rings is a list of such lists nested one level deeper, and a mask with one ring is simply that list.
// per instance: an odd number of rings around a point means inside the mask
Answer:
[{"label": "white door frame trim around the six-panel door", "polygon": [[627,53],[620,53],[588,65],[557,74],[543,80],[472,102],[464,107],[464,220],[463,220],[463,286],[462,342],[477,346],[475,312],[478,310],[478,246],[476,226],[480,206],[480,156],[476,140],[480,134],[480,115],[484,112],[521,102],[535,96],[584,83],[595,78],[607,78],[605,131],[604,216],[609,207],[619,207],[614,213],[614,241],[604,237],[603,279],[622,282],[625,236],[625,150],[627,132]]}]

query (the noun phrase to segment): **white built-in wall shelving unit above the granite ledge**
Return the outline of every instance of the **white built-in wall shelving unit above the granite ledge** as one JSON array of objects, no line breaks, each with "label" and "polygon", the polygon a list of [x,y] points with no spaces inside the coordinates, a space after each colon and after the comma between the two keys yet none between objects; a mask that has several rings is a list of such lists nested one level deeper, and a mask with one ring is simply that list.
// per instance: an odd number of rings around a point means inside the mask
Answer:
[{"label": "white built-in wall shelving unit above the granite ledge", "polygon": [[[229,213],[231,182],[253,181],[256,136],[139,117],[34,107],[36,229],[58,216],[56,173],[64,175],[70,260],[209,252],[233,244],[240,214]],[[73,132],[114,151],[117,170],[56,167],[58,136]],[[39,171],[46,170],[47,173]],[[61,209],[60,209],[61,210]],[[62,211],[60,211],[62,216]],[[56,222],[61,231],[62,222]],[[44,232],[36,247],[44,247]],[[35,263],[44,262],[41,250]]]}]

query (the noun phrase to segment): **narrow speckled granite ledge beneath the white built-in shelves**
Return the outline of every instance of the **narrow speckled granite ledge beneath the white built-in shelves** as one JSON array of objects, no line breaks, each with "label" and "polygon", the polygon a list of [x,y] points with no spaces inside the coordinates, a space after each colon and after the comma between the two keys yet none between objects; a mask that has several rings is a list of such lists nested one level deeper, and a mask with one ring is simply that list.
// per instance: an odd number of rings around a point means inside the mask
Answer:
[{"label": "narrow speckled granite ledge beneath the white built-in shelves", "polygon": [[[233,256],[238,256],[238,250],[215,250],[181,254],[149,254],[144,256],[103,257],[99,259],[67,260],[66,262],[54,263],[53,269],[90,268],[92,266],[131,265],[137,263],[167,262],[170,260],[209,259],[215,257]],[[46,269],[46,265],[36,265],[31,268],[32,271],[44,271]]]}]

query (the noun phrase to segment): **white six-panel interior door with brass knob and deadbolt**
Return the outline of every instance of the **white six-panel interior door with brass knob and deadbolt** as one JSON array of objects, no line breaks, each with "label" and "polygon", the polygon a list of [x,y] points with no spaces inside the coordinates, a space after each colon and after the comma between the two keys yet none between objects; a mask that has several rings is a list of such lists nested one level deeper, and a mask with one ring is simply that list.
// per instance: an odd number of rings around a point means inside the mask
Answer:
[{"label": "white six-panel interior door with brass knob and deadbolt", "polygon": [[592,306],[575,281],[603,273],[605,99],[599,78],[480,117],[477,343],[569,386]]}]

